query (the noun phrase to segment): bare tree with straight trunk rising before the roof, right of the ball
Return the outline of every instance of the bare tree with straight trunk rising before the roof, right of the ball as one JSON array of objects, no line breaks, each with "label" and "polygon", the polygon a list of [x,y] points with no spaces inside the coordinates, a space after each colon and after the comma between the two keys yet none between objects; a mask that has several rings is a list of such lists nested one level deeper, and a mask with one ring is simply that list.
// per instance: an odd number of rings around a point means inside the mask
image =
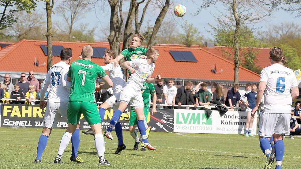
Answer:
[{"label": "bare tree with straight trunk rising before the roof, right of the ball", "polygon": [[[198,12],[209,6],[223,4],[227,13],[219,14],[217,10],[216,20],[225,28],[234,28],[233,48],[234,48],[234,84],[239,83],[239,35],[241,26],[254,24],[270,15],[272,9],[270,5],[261,0],[204,0]],[[198,14],[198,13],[197,13]],[[213,13],[212,13],[213,14]]]}]

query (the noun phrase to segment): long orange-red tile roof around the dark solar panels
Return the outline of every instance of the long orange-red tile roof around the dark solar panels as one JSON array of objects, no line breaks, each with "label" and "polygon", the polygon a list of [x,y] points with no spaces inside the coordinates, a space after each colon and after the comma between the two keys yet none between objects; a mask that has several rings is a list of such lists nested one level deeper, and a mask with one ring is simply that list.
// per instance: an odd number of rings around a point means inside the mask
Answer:
[{"label": "long orange-red tile roof around the dark solar panels", "polygon": [[[72,61],[78,60],[78,54],[85,45],[92,47],[109,48],[108,42],[99,43],[82,43],[82,42],[52,42],[53,45],[62,45],[63,47],[72,48]],[[47,56],[43,53],[40,45],[47,45],[46,41],[26,40],[23,39],[18,43],[14,43],[9,52],[0,54],[0,70],[10,72],[35,72],[47,73]],[[161,74],[164,78],[180,78],[180,79],[202,79],[202,80],[219,80],[233,81],[234,64],[233,62],[217,56],[201,47],[184,47],[179,45],[155,45],[153,48],[159,49],[159,58],[156,62],[153,74]],[[4,49],[3,49],[4,50]],[[191,51],[198,62],[176,62],[171,54],[173,51]],[[2,51],[2,50],[1,50]],[[1,52],[0,51],[0,52]],[[35,58],[39,60],[39,65],[44,62],[45,66],[35,66]],[[53,64],[59,62],[60,58],[53,57]],[[99,65],[103,64],[102,58],[93,58],[92,62]],[[212,65],[216,64],[217,71],[223,69],[221,73],[214,74],[211,72]],[[239,68],[240,81],[259,81],[259,75],[248,69]]]}]

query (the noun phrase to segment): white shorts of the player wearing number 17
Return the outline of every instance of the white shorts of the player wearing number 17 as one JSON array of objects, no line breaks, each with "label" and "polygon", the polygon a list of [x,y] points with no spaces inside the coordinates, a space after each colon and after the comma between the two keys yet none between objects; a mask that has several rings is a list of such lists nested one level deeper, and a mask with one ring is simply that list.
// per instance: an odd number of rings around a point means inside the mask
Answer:
[{"label": "white shorts of the player wearing number 17", "polygon": [[67,110],[68,103],[48,102],[44,115],[43,127],[55,127],[58,124],[58,121],[61,117],[64,119],[65,122],[68,122]]}]

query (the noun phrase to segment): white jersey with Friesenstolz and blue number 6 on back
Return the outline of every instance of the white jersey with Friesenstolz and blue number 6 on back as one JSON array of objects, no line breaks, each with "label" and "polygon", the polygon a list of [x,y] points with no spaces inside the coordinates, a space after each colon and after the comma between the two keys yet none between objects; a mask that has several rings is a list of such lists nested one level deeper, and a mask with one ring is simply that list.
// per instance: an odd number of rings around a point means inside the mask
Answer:
[{"label": "white jersey with Friesenstolz and blue number 6 on back", "polygon": [[291,113],[291,88],[297,87],[297,79],[292,69],[274,63],[260,73],[260,81],[267,83],[265,88],[265,113]]}]

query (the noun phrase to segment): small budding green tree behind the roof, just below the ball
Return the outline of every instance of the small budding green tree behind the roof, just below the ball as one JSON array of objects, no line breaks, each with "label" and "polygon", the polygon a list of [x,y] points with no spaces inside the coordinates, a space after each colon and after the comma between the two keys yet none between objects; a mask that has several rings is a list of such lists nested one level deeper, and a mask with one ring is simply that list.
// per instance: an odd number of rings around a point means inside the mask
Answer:
[{"label": "small budding green tree behind the roof, just below the ball", "polygon": [[185,28],[185,33],[181,36],[182,43],[187,47],[191,47],[191,45],[199,45],[202,46],[202,36],[200,36],[200,32],[198,28],[195,28],[193,24],[188,24]]}]

